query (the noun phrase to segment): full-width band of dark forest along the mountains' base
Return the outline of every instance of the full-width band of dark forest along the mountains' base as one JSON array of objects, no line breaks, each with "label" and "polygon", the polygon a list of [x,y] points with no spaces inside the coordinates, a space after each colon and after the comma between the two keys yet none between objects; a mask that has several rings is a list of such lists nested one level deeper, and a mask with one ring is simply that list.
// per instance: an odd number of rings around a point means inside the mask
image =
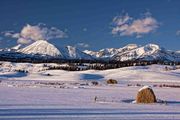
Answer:
[{"label": "full-width band of dark forest along the mountains' base", "polygon": [[146,61],[146,60],[131,60],[131,61],[113,61],[113,60],[77,60],[77,59],[60,59],[60,58],[52,58],[48,56],[39,56],[34,55],[27,56],[21,54],[1,54],[0,61],[9,61],[9,62],[21,62],[21,63],[57,63],[57,64],[64,64],[66,63],[68,66],[51,66],[49,69],[61,69],[61,70],[68,70],[68,71],[78,71],[78,70],[88,70],[88,69],[95,69],[95,70],[106,70],[106,69],[115,69],[121,67],[128,67],[128,66],[146,66],[152,64],[161,64],[161,65],[180,65],[180,62],[173,62],[173,61],[161,61],[161,60],[153,60],[153,61]]}]

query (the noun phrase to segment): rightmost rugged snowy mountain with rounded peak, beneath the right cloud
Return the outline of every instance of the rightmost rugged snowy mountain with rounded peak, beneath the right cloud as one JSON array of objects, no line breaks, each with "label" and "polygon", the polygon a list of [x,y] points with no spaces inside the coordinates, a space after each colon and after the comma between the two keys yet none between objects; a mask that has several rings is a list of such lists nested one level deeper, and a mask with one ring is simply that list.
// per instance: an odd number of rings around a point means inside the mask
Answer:
[{"label": "rightmost rugged snowy mountain with rounded peak, beneath the right cloud", "polygon": [[162,60],[162,61],[180,61],[180,54],[160,48],[156,44],[147,44],[133,50],[120,52],[112,57],[113,60]]}]

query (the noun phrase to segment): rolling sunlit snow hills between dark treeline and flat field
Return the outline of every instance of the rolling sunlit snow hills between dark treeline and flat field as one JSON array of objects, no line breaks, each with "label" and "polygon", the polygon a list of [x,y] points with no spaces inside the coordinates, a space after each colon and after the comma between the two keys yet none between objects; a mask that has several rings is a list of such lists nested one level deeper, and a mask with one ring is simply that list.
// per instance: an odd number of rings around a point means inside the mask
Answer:
[{"label": "rolling sunlit snow hills between dark treeline and flat field", "polygon": [[[166,70],[174,66],[150,65],[132,66],[110,70],[86,70],[86,71],[64,71],[48,70],[49,67],[68,66],[67,64],[55,63],[11,63],[3,62],[0,68],[1,79],[13,80],[53,80],[53,81],[79,81],[115,79],[120,83],[127,82],[180,82],[180,69]],[[178,66],[177,66],[178,67]],[[81,66],[80,66],[81,68]],[[22,74],[18,70],[28,71]],[[51,76],[47,76],[50,74]],[[20,76],[22,75],[22,76]],[[11,76],[11,78],[8,78]]]}]

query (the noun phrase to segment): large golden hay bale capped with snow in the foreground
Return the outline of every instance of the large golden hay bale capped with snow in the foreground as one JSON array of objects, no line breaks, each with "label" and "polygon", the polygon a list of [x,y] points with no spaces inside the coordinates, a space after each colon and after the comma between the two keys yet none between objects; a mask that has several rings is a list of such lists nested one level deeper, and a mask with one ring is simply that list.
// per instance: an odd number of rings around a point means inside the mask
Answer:
[{"label": "large golden hay bale capped with snow in the foreground", "polygon": [[136,103],[155,103],[157,102],[156,96],[149,86],[144,86],[138,91],[136,96]]}]

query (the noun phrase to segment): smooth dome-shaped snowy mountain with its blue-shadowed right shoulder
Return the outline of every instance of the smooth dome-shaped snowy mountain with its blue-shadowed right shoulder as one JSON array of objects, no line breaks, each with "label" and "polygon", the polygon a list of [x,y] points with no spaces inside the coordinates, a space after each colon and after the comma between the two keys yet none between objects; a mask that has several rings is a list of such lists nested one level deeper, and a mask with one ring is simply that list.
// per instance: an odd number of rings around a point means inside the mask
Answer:
[{"label": "smooth dome-shaped snowy mountain with its blue-shadowed right shoulder", "polygon": [[[18,46],[17,46],[18,47]],[[31,45],[17,50],[23,54],[42,55],[61,59],[85,59],[92,60],[92,57],[72,46],[57,48],[45,40],[38,40]]]}]

